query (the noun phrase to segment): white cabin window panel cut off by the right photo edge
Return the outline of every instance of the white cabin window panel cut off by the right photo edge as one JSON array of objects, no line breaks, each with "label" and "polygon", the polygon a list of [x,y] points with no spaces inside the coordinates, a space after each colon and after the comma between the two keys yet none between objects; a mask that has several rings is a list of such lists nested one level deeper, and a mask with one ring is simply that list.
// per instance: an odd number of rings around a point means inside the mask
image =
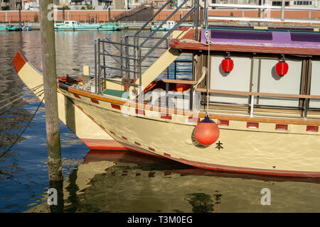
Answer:
[{"label": "white cabin window panel cut off by the right photo edge", "polygon": [[[320,95],[320,60],[313,60],[311,63],[311,87],[310,95]],[[320,108],[319,99],[311,99],[309,101],[309,108]]]}]

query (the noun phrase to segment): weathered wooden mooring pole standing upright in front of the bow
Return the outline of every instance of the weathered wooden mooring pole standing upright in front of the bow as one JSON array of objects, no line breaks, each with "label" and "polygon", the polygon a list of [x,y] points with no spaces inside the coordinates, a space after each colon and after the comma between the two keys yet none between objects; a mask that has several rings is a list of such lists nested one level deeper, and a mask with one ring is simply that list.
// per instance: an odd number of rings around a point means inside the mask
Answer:
[{"label": "weathered wooden mooring pole standing upright in front of the bow", "polygon": [[48,16],[51,10],[48,10],[48,6],[49,4],[53,4],[53,0],[43,0],[39,1],[39,3],[49,181],[60,181],[63,180],[63,174],[58,121],[57,76],[55,69],[55,30],[53,15]]}]

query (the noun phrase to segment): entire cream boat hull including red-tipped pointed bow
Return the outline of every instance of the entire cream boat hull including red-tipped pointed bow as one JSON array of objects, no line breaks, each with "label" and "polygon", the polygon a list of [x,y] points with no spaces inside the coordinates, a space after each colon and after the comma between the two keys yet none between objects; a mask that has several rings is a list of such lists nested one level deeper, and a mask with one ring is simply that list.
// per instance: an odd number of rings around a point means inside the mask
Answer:
[{"label": "entire cream boat hull including red-tipped pointed bow", "polygon": [[[41,84],[41,74],[21,53],[14,65],[29,88]],[[284,119],[288,130],[279,131],[275,126],[282,122],[272,119],[250,128],[247,121],[256,119],[211,115],[217,123],[228,119],[228,125],[220,123],[217,143],[205,147],[193,135],[203,113],[137,106],[61,83],[58,110],[60,120],[92,149],[132,150],[209,170],[320,177],[320,133],[306,130],[310,121]]]}]

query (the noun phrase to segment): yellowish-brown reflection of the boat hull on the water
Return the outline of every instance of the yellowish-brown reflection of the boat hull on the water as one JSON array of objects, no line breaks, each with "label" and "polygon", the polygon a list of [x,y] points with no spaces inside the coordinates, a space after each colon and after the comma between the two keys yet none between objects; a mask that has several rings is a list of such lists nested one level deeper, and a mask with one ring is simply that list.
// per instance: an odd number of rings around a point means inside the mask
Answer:
[{"label": "yellowish-brown reflection of the boat hull on the water", "polygon": [[[64,212],[319,212],[319,183],[200,170],[131,152],[90,151],[64,182]],[[270,206],[260,202],[263,188],[271,190]],[[48,205],[32,211],[49,211]]]}]

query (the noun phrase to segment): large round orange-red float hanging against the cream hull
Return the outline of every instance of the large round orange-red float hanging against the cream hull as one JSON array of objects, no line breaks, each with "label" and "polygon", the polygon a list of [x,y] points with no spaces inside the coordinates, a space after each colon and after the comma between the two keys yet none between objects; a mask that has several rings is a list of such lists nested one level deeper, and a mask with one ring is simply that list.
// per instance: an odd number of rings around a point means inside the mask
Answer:
[{"label": "large round orange-red float hanging against the cream hull", "polygon": [[212,121],[207,115],[202,121],[198,123],[194,129],[194,136],[196,140],[202,145],[211,145],[218,140],[220,135],[218,125]]}]

